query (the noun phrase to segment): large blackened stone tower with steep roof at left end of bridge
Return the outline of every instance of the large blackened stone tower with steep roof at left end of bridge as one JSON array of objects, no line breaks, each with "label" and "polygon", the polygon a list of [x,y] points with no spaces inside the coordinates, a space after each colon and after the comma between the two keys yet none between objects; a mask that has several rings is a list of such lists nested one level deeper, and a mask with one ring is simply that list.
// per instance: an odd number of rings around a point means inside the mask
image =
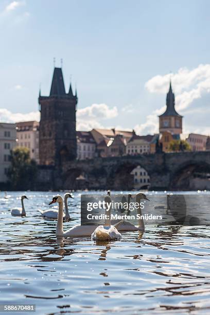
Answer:
[{"label": "large blackened stone tower with steep roof at left end of bridge", "polygon": [[60,166],[76,159],[76,105],[70,84],[65,92],[61,68],[54,68],[49,96],[39,95],[40,130],[39,152],[41,165]]}]

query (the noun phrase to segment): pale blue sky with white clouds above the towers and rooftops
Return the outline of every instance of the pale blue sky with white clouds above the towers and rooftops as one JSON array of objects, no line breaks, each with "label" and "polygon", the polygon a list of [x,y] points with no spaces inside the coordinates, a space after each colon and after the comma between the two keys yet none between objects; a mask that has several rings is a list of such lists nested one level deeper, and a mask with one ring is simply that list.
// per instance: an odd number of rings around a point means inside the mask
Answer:
[{"label": "pale blue sky with white clouds above the towers and rooftops", "polygon": [[56,66],[77,130],[158,132],[171,78],[183,132],[210,134],[208,0],[1,0],[0,121],[39,119]]}]

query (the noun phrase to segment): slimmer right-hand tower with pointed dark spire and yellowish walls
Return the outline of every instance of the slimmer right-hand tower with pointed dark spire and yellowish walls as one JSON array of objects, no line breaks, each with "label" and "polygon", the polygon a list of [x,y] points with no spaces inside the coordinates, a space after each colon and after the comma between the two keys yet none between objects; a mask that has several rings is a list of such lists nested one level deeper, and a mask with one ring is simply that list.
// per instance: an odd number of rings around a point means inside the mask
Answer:
[{"label": "slimmer right-hand tower with pointed dark spire and yellowish walls", "polygon": [[182,117],[175,109],[175,97],[170,81],[166,97],[166,111],[159,116],[159,132],[170,131],[172,134],[182,133]]}]

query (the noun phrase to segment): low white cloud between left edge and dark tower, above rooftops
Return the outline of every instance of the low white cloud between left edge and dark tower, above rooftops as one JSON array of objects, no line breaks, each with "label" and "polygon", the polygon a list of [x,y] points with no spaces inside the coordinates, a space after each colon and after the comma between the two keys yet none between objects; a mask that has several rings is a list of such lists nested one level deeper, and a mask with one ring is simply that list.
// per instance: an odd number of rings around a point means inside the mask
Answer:
[{"label": "low white cloud between left edge and dark tower, above rooftops", "polygon": [[0,121],[2,122],[18,122],[18,121],[30,121],[40,120],[40,112],[30,112],[27,114],[11,113],[7,109],[0,109]]}]

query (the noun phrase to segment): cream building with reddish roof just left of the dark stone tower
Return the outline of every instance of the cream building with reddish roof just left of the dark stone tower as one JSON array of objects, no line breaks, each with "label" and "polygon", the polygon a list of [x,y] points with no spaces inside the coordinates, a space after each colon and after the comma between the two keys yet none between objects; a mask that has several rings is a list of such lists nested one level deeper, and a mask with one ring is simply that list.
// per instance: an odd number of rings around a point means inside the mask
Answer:
[{"label": "cream building with reddish roof just left of the dark stone tower", "polygon": [[30,158],[39,164],[39,122],[17,122],[16,131],[17,147],[28,148],[30,151]]}]

